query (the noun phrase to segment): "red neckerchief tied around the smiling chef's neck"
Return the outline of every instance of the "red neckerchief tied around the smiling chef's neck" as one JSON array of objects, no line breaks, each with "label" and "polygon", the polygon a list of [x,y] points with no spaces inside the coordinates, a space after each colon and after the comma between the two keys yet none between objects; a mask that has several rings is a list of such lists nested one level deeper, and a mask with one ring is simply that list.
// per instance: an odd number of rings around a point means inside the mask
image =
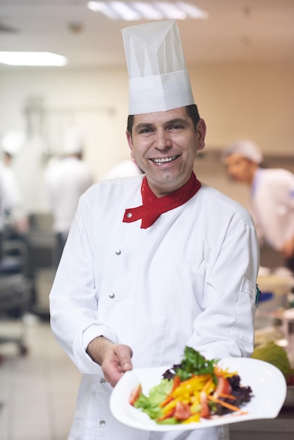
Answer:
[{"label": "red neckerchief tied around the smiling chef's neck", "polygon": [[126,209],[122,221],[131,223],[132,221],[142,219],[141,228],[149,228],[161,214],[188,202],[188,200],[197,193],[200,187],[200,181],[196,179],[196,175],[192,172],[190,179],[184,186],[175,190],[174,193],[157,198],[151,191],[145,176],[141,184],[143,205]]}]

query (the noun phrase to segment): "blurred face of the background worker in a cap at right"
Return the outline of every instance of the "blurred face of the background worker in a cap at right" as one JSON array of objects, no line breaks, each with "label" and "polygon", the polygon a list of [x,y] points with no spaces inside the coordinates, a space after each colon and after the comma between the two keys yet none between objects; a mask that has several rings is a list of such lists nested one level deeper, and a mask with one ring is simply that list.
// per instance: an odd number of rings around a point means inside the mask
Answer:
[{"label": "blurred face of the background worker in a cap at right", "polygon": [[256,164],[251,160],[233,153],[225,159],[226,172],[237,182],[251,183],[253,180]]}]

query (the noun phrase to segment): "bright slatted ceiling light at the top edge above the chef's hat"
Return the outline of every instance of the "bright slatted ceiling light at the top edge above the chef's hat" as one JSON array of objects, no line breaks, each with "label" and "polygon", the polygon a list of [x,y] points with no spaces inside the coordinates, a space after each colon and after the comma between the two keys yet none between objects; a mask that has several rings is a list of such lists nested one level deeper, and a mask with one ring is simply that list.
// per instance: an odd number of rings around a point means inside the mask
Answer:
[{"label": "bright slatted ceiling light at the top edge above the chef's hat", "polygon": [[88,8],[101,12],[111,20],[184,20],[185,18],[207,18],[208,14],[193,4],[184,1],[89,1]]}]

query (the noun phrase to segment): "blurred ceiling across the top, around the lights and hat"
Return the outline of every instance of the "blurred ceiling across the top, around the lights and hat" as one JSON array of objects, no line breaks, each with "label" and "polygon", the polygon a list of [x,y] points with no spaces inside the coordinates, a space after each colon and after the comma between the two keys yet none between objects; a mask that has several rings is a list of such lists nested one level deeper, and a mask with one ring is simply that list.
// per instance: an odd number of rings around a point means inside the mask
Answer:
[{"label": "blurred ceiling across the top, around the lights and hat", "polygon": [[[188,65],[294,63],[294,0],[186,1],[209,13],[177,22]],[[125,65],[120,30],[138,23],[111,21],[87,0],[0,0],[0,51],[59,53],[65,68]]]}]

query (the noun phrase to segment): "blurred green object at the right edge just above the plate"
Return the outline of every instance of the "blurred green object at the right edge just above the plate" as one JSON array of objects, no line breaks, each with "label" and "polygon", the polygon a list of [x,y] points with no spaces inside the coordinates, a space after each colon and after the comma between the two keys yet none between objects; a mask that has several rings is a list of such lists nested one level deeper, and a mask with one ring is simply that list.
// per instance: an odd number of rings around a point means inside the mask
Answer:
[{"label": "blurred green object at the right edge just above the plate", "polygon": [[286,380],[294,374],[294,369],[290,365],[287,351],[283,349],[283,347],[279,347],[274,341],[266,342],[265,344],[255,347],[251,357],[271,363],[271,365],[279,368]]}]

